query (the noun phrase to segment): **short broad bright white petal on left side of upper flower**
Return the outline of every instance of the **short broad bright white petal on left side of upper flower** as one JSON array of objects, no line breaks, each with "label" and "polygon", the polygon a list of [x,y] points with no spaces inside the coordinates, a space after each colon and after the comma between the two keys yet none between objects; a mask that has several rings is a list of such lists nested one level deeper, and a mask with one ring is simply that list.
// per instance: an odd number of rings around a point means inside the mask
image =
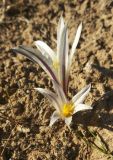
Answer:
[{"label": "short broad bright white petal on left side of upper flower", "polygon": [[52,61],[57,58],[55,52],[46,43],[42,41],[35,41],[35,45],[44,56],[51,58]]}]

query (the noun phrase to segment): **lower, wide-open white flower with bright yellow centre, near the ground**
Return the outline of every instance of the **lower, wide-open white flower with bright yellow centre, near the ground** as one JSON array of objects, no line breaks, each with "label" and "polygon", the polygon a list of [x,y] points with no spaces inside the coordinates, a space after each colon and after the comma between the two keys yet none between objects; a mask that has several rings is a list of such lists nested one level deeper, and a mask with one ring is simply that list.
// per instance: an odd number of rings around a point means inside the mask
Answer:
[{"label": "lower, wide-open white flower with bright yellow centre, near the ground", "polygon": [[53,103],[56,109],[51,116],[50,126],[52,126],[59,118],[63,119],[67,126],[69,126],[72,121],[73,114],[78,111],[92,109],[91,106],[83,104],[83,101],[91,89],[91,85],[84,87],[72,98],[71,101],[69,101],[62,87],[55,81],[53,83],[56,93],[51,92],[48,89],[35,88],[41,94],[46,96],[51,103]]}]

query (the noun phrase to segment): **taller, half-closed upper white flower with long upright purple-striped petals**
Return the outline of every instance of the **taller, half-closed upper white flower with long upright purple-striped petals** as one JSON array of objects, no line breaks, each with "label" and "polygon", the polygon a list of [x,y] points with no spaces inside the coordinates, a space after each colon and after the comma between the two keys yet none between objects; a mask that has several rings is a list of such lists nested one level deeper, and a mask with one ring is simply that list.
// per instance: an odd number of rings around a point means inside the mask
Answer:
[{"label": "taller, half-closed upper white flower with long upright purple-striped petals", "polygon": [[81,30],[82,23],[77,29],[70,54],[68,53],[67,25],[64,23],[62,17],[60,18],[57,29],[57,53],[43,41],[35,42],[37,49],[19,46],[18,48],[14,48],[13,51],[21,53],[33,62],[38,63],[54,81],[62,86],[65,94],[67,94],[69,70],[80,38]]}]

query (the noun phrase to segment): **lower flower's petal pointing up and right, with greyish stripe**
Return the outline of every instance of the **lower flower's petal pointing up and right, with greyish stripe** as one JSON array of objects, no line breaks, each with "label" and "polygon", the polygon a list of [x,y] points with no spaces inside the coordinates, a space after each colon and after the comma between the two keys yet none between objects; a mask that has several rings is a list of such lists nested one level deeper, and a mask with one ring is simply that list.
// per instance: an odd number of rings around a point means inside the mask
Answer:
[{"label": "lower flower's petal pointing up and right, with greyish stripe", "polygon": [[91,89],[91,84],[89,84],[86,87],[84,87],[81,91],[79,91],[72,98],[72,102],[75,103],[76,105],[79,104],[79,103],[83,103],[83,101],[85,100],[86,96],[88,95],[90,89]]}]

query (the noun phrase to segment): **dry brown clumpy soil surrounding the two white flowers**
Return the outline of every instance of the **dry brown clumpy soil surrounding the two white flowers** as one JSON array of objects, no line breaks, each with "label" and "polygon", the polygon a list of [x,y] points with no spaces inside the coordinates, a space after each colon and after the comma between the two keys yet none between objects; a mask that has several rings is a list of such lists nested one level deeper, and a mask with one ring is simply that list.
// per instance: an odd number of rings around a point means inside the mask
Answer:
[{"label": "dry brown clumpy soil surrounding the two white flowers", "polygon": [[[93,110],[74,115],[70,130],[61,120],[49,127],[54,107],[34,87],[52,88],[51,81],[39,65],[11,50],[35,40],[56,50],[61,15],[68,22],[70,47],[83,23],[69,97],[92,84],[86,103]],[[0,1],[0,160],[112,159],[112,97],[112,0]]]}]

